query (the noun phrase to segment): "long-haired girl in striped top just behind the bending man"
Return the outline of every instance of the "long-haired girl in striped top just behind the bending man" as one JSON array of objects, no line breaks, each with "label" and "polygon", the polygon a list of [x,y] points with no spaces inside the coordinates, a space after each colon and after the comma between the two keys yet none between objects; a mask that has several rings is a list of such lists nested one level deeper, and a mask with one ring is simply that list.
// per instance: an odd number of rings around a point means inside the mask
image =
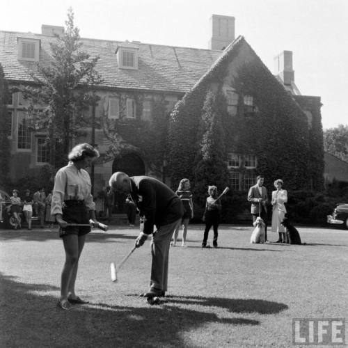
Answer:
[{"label": "long-haired girl in striped top just behind the bending man", "polygon": [[192,202],[192,192],[190,191],[191,184],[189,179],[180,180],[179,186],[177,187],[177,191],[175,192],[177,196],[179,196],[182,201],[182,205],[184,207],[184,216],[182,216],[181,223],[177,225],[174,232],[174,240],[172,242],[172,246],[176,245],[177,235],[179,234],[179,228],[182,226],[182,240],[181,246],[186,245],[186,237],[187,237],[187,226],[189,226],[190,219],[193,218],[193,202]]}]

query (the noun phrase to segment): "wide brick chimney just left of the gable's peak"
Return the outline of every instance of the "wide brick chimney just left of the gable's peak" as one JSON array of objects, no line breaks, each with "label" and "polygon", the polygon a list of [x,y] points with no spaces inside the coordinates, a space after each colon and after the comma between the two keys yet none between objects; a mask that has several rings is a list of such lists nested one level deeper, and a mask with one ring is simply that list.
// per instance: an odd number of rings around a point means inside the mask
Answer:
[{"label": "wide brick chimney just left of the gable's peak", "polygon": [[235,40],[235,17],[212,15],[210,18],[212,38],[209,40],[209,49],[225,49]]}]

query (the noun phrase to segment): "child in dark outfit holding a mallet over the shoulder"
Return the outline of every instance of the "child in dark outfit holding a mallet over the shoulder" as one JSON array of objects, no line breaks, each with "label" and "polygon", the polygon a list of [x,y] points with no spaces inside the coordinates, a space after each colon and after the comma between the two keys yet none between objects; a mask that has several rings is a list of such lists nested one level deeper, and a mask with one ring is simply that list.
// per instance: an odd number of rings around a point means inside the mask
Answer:
[{"label": "child in dark outfit holding a mallet over the shoulder", "polygon": [[218,239],[218,227],[220,221],[220,212],[221,212],[221,202],[216,200],[218,198],[218,192],[216,186],[208,186],[207,202],[205,203],[205,212],[203,215],[203,221],[205,222],[204,237],[202,242],[202,248],[207,247],[207,239],[209,235],[209,230],[213,226],[214,238],[213,246],[217,248],[217,239]]}]

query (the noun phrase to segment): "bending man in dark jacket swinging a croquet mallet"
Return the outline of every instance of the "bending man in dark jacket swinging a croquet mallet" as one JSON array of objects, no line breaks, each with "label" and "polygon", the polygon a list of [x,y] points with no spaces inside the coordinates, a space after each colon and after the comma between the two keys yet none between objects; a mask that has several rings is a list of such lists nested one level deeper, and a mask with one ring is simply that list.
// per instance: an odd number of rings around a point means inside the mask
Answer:
[{"label": "bending man in dark jacket swinging a croquet mallet", "polygon": [[143,218],[144,223],[141,224],[135,246],[139,248],[152,235],[150,291],[141,296],[164,296],[167,290],[171,239],[184,214],[181,200],[163,182],[145,175],[129,177],[125,173],[116,172],[111,176],[109,184],[116,196],[129,195],[129,200],[134,202]]}]

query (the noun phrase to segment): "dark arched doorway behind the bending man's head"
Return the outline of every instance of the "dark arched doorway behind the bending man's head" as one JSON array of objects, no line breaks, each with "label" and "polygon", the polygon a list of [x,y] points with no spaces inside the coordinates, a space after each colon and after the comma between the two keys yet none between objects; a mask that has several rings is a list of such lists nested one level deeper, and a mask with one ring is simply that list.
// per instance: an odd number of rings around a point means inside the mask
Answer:
[{"label": "dark arched doorway behind the bending man's head", "polygon": [[[145,164],[141,157],[136,153],[127,153],[114,159],[112,172],[123,172],[129,176],[145,175]],[[120,214],[125,212],[125,195],[115,196],[114,212]]]}]

